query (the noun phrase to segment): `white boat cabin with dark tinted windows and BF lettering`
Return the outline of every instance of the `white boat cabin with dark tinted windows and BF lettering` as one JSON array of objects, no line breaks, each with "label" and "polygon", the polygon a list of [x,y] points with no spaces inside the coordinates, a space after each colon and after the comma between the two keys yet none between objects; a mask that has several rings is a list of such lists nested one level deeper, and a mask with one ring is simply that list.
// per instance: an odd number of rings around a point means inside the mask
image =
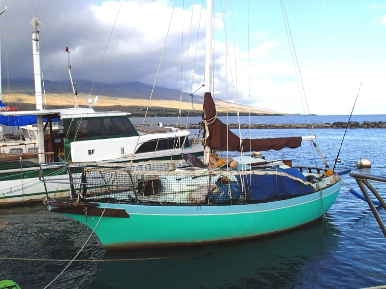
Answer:
[{"label": "white boat cabin with dark tinted windows and BF lettering", "polygon": [[[93,109],[28,113],[43,115],[46,120],[43,124],[44,151],[53,152],[53,159],[49,156],[51,159],[46,160],[49,162],[125,161],[133,156],[157,158],[170,156],[175,150],[192,148],[188,131],[163,127],[162,124],[137,130],[129,119],[130,113],[95,112]],[[39,142],[38,125],[21,129],[26,140]],[[37,151],[39,146],[35,149]]]}]

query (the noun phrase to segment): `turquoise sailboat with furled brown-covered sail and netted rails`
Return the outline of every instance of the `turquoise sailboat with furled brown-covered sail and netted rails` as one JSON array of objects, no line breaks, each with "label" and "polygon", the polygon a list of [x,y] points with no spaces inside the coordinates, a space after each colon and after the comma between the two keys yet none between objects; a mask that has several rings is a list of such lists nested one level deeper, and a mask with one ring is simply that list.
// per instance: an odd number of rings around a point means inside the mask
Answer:
[{"label": "turquoise sailboat with furled brown-covered sail and netted rails", "polygon": [[[186,154],[183,160],[126,167],[58,164],[69,171],[72,198],[47,197],[48,209],[85,224],[108,250],[198,245],[279,233],[320,218],[339,194],[340,178],[328,168],[300,170],[280,159],[252,157],[235,163],[213,153],[226,148],[244,152],[297,148],[315,137],[241,140],[229,131],[220,132],[224,125],[215,118],[209,85],[212,1],[207,2],[207,13],[204,160]],[[44,175],[42,181],[55,182]]]}]

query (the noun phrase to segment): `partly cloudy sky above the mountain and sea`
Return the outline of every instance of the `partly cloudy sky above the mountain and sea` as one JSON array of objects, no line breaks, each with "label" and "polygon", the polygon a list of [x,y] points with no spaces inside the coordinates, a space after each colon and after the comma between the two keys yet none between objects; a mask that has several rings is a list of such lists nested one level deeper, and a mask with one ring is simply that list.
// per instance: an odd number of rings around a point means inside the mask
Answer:
[{"label": "partly cloudy sky above the mountain and sea", "polygon": [[[37,17],[45,80],[69,79],[69,47],[74,80],[204,94],[205,0],[0,0],[6,6],[7,82],[34,77]],[[215,98],[286,114],[386,114],[386,1],[215,0],[214,14]]]}]

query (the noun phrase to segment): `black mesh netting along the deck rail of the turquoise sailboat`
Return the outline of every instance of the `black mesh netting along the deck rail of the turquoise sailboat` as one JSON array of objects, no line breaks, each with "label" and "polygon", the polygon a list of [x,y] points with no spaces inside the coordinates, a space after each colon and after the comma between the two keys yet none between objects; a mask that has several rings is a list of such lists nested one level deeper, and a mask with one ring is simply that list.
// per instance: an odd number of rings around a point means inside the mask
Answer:
[{"label": "black mesh netting along the deck rail of the turquoise sailboat", "polygon": [[[106,165],[105,165],[106,166]],[[208,171],[185,161],[109,167],[69,167],[72,197],[84,201],[162,204],[241,204],[315,192],[296,169]]]}]

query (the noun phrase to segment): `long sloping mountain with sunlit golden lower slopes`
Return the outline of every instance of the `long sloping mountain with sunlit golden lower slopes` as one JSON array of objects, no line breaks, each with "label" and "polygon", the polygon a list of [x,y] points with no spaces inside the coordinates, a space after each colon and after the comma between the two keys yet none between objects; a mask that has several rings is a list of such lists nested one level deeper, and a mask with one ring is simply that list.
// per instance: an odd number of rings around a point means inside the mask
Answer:
[{"label": "long sloping mountain with sunlit golden lower slopes", "polygon": [[[103,83],[93,84],[87,80],[74,80],[75,90],[77,91],[77,101],[79,106],[87,105],[87,99],[94,99],[98,95],[98,103],[93,104],[95,110],[119,110],[127,111],[133,115],[142,116],[149,104],[148,115],[152,116],[175,116],[181,109],[181,114],[199,116],[202,114],[202,104],[204,97],[184,92],[182,102],[179,101],[181,95],[178,89],[155,87],[151,101],[149,98],[152,86],[140,82],[126,83]],[[90,89],[92,87],[91,95]],[[71,90],[70,80],[65,81],[44,81],[44,91],[47,107],[69,107],[74,105],[74,93]],[[44,94],[43,91],[43,94]],[[204,94],[204,92],[202,92]],[[90,95],[90,96],[89,96]],[[193,103],[191,103],[191,100]],[[34,109],[35,107],[35,82],[33,79],[16,78],[12,84],[3,80],[3,102],[9,106],[19,109]],[[278,115],[278,112],[267,109],[258,109],[245,105],[237,105],[220,99],[215,99],[218,115],[224,115],[227,107],[230,115],[235,115],[237,111],[241,115]]]}]

